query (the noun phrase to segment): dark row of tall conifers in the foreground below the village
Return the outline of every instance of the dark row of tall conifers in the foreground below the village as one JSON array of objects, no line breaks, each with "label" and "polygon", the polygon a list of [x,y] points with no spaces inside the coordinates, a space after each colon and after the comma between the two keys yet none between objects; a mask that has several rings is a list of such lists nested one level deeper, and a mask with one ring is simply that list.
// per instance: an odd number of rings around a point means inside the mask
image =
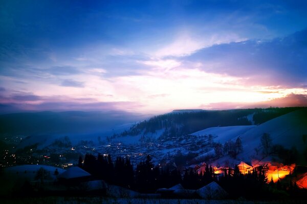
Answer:
[{"label": "dark row of tall conifers in the foreground below the village", "polygon": [[78,165],[97,179],[141,193],[155,193],[159,188],[170,188],[177,184],[181,184],[185,189],[199,189],[215,181],[229,193],[229,198],[277,199],[280,193],[289,193],[289,189],[290,193],[299,192],[298,194],[302,195],[302,191],[295,184],[268,182],[265,171],[261,169],[242,174],[238,166],[235,166],[234,169],[225,169],[223,175],[217,176],[213,167],[206,165],[202,172],[192,168],[181,172],[172,166],[153,164],[149,155],[135,168],[129,158],[118,157],[113,162],[110,155],[101,154],[97,157],[86,154],[84,163],[82,164],[80,157]]}]

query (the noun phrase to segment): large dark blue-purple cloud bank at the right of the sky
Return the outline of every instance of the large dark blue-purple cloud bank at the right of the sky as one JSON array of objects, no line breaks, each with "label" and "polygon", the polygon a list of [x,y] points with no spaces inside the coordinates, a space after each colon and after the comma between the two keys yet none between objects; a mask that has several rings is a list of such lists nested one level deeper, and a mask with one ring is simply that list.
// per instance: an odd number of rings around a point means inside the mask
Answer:
[{"label": "large dark blue-purple cloud bank at the right of the sky", "polygon": [[248,40],[204,48],[182,61],[207,72],[245,78],[246,85],[299,87],[307,82],[307,30],[270,41]]}]

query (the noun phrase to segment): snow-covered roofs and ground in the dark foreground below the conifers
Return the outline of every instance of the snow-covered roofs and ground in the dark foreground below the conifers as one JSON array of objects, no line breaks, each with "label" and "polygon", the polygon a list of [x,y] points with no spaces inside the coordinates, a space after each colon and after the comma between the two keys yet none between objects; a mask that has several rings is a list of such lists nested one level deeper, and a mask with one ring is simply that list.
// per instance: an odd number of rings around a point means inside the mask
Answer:
[{"label": "snow-covered roofs and ground in the dark foreground below the conifers", "polygon": [[[79,167],[71,167],[57,176],[58,184],[70,190],[82,191],[114,197],[164,197],[164,198],[204,198],[223,199],[228,193],[217,183],[212,182],[198,190],[184,189],[181,184],[171,188],[158,189],[155,194],[141,194],[119,186],[108,185],[103,180],[94,180],[94,177]],[[58,188],[58,191],[61,188]],[[64,190],[64,189],[62,189]],[[67,188],[65,189],[67,190]]]}]

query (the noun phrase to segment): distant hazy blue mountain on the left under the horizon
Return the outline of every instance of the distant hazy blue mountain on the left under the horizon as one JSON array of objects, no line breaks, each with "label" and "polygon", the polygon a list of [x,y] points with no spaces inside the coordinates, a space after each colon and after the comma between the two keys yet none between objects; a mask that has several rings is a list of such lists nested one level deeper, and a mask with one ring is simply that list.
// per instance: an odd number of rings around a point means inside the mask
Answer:
[{"label": "distant hazy blue mountain on the left under the horizon", "polygon": [[0,115],[0,136],[102,133],[146,117],[123,111],[3,114]]}]

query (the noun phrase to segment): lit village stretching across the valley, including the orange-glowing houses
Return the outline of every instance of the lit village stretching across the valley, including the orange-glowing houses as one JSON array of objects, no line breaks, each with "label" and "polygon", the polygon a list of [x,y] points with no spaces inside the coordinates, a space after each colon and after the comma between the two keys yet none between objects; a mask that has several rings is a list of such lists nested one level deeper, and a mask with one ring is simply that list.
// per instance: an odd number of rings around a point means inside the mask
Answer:
[{"label": "lit village stretching across the valley, including the orange-glowing houses", "polygon": [[[214,137],[213,137],[214,138]],[[19,142],[19,138],[17,137]],[[172,164],[174,167],[179,167],[181,171],[192,168],[196,172],[204,173],[206,163],[211,164],[214,153],[212,153],[212,146],[208,145],[207,136],[193,136],[187,135],[185,137],[168,138],[167,140],[156,140],[135,144],[125,143],[108,143],[108,144],[95,144],[92,141],[81,141],[73,147],[59,147],[50,145],[43,149],[37,149],[32,145],[24,151],[16,151],[14,148],[4,149],[3,161],[0,164],[2,167],[9,167],[23,164],[36,164],[36,165],[52,165],[60,168],[68,168],[77,165],[78,158],[81,156],[84,159],[85,154],[97,155],[111,155],[113,158],[123,157],[129,158],[132,164],[137,164],[146,159],[147,155],[151,155],[152,162],[161,166]],[[15,145],[17,144],[16,141]],[[211,151],[210,151],[211,150]],[[209,154],[208,154],[209,152]],[[211,152],[211,154],[210,154]],[[207,155],[203,158],[205,161],[198,162],[193,158],[199,155]],[[185,161],[179,161],[176,164],[174,158],[176,156],[191,155],[193,158],[185,158]],[[211,158],[211,160],[210,160]],[[205,163],[206,162],[206,163]],[[227,166],[228,164],[214,164],[214,174],[217,177],[222,176],[225,171],[233,171],[234,165]],[[265,170],[268,180],[277,182],[283,179],[286,175],[291,174],[295,168],[293,165],[283,165],[278,162],[272,161],[257,161],[245,163],[244,161],[237,162],[239,170],[243,174],[252,172],[253,170]]]}]

